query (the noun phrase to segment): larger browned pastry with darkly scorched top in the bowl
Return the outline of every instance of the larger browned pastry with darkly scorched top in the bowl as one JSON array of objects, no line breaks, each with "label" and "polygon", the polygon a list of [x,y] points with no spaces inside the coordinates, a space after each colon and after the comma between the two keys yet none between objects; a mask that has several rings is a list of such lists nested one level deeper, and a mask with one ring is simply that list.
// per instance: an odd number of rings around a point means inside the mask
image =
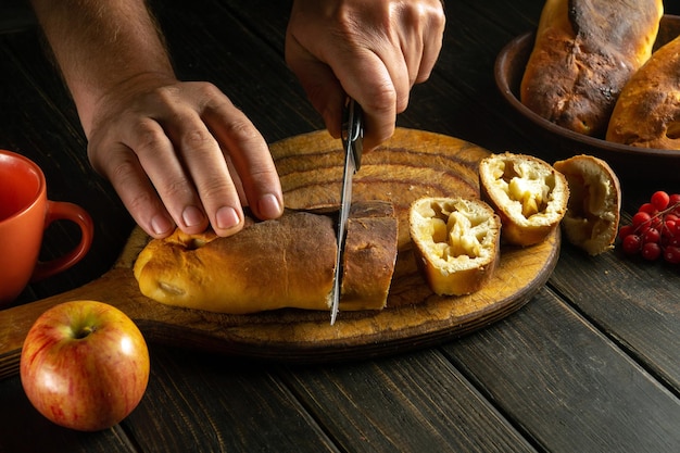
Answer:
[{"label": "larger browned pastry with darkly scorched top in the bowl", "polygon": [[565,128],[604,137],[621,89],[652,54],[662,0],[547,0],[520,100]]}]

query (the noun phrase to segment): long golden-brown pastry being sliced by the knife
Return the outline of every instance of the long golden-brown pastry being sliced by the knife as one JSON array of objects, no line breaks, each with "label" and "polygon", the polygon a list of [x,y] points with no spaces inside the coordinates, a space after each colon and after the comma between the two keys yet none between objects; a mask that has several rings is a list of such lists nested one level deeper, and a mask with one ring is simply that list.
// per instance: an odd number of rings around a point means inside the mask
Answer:
[{"label": "long golden-brown pastry being sliced by the knife", "polygon": [[[154,239],[135,263],[141,292],[158,302],[218,313],[329,310],[336,222],[287,211],[240,232]],[[396,260],[398,221],[386,202],[355,203],[348,223],[341,310],[380,310]]]}]

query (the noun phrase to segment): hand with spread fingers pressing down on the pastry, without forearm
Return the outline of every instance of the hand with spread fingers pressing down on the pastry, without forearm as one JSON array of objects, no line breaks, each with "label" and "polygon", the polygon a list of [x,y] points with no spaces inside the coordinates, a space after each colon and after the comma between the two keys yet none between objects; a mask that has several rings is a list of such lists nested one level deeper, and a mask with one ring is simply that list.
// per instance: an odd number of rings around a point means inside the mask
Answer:
[{"label": "hand with spread fingers pressing down on the pastry, without forearm", "polygon": [[[109,91],[86,128],[92,166],[149,235],[219,236],[243,227],[242,203],[281,215],[279,178],[264,138],[215,86],[144,74]],[[89,129],[89,130],[88,130]]]}]

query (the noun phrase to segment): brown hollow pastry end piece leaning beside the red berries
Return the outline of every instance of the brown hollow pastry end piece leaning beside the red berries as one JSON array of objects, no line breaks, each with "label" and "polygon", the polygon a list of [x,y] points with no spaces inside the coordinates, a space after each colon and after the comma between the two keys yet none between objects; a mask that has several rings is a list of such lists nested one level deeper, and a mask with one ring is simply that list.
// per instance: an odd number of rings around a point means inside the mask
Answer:
[{"label": "brown hollow pastry end piece leaning beside the red berries", "polygon": [[621,188],[609,165],[592,155],[555,162],[569,184],[569,203],[562,219],[567,240],[591,255],[614,248],[621,211]]}]

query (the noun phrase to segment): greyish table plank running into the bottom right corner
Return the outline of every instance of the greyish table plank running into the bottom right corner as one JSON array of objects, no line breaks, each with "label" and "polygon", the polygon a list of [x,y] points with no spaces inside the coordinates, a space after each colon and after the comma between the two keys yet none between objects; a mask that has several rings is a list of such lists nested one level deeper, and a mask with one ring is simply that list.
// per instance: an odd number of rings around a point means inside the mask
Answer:
[{"label": "greyish table plank running into the bottom right corner", "polygon": [[671,453],[680,446],[680,400],[547,289],[444,350],[547,451]]}]

